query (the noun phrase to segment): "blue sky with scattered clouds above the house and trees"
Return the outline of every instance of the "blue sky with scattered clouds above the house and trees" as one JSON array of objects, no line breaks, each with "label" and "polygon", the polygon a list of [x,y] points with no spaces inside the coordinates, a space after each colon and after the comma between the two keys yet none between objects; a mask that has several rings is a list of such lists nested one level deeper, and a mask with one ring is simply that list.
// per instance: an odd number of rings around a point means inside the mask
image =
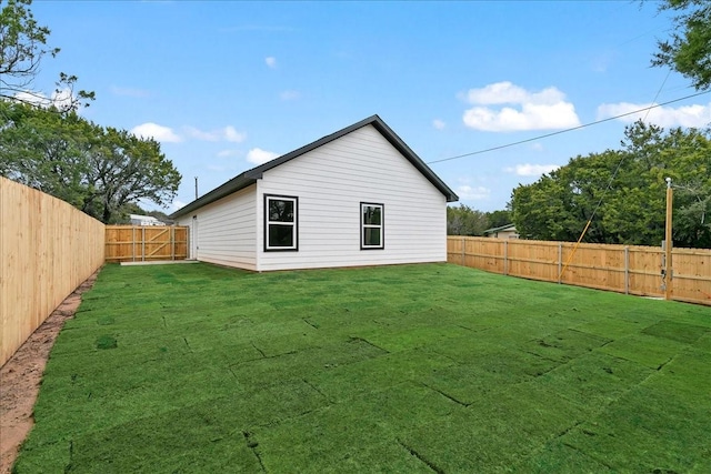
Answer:
[{"label": "blue sky with scattered clouds above the house and trees", "polygon": [[[49,2],[36,88],[59,71],[81,113],[151,135],[182,173],[167,211],[263,160],[379,114],[425,162],[532,139],[694,93],[651,68],[671,28],[653,2]],[[619,147],[634,118],[431,163],[482,211],[572,157]],[[654,109],[711,122],[711,93]],[[144,205],[154,209],[151,205]]]}]

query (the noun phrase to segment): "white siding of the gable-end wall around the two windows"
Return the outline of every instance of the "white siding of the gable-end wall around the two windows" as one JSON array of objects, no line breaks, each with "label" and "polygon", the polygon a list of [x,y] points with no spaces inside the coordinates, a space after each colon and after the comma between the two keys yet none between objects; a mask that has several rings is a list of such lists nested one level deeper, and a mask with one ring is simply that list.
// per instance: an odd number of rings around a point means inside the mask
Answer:
[{"label": "white siding of the gable-end wall around the two windows", "polygon": [[[372,125],[266,171],[256,194],[259,271],[447,260],[444,195]],[[299,198],[297,252],[264,252],[264,194]],[[361,202],[384,204],[382,250],[360,250]]]}]

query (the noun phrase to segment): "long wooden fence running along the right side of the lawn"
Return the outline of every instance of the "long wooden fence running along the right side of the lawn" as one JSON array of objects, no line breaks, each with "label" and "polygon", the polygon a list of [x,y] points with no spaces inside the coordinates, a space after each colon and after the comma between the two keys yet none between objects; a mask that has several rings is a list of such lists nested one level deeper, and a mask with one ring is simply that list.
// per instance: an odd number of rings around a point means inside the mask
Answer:
[{"label": "long wooden fence running along the right side of the lawn", "polygon": [[[447,260],[503,275],[664,296],[661,248],[583,243],[570,259],[574,245],[450,235]],[[711,305],[711,250],[673,249],[672,254],[672,299]]]}]

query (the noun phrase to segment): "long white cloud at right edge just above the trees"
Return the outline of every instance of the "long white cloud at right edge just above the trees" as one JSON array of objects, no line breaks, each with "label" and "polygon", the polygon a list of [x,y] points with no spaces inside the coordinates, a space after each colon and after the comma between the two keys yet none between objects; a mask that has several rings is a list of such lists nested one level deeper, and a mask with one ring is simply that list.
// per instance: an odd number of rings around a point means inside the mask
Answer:
[{"label": "long white cloud at right edge just above the trees", "polygon": [[[630,113],[635,110],[645,109],[652,104],[650,103],[603,103],[598,107],[598,120],[608,119],[610,117],[621,115],[623,113]],[[644,117],[647,115],[647,119]],[[632,113],[630,115],[621,117],[617,120],[624,123],[632,123],[637,120],[644,119],[648,123],[654,123],[660,127],[689,127],[689,128],[704,128],[711,123],[711,103],[707,105],[680,105],[673,107],[657,107],[648,111]]]}]

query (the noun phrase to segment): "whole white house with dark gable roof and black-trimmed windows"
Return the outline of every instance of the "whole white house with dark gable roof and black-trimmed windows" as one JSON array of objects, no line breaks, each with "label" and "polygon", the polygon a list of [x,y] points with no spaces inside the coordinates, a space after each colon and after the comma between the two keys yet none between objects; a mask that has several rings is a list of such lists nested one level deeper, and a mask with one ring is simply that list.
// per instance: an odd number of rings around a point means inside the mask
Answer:
[{"label": "whole white house with dark gable roof and black-trimmed windows", "polygon": [[459,198],[370,117],[253,168],[170,215],[191,258],[253,271],[447,261]]}]

